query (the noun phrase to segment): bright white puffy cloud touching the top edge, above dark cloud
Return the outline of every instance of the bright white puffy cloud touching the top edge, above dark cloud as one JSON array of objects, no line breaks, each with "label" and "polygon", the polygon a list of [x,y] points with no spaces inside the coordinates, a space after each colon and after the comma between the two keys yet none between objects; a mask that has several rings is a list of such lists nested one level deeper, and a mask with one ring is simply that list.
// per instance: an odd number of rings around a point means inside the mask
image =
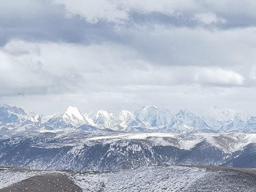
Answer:
[{"label": "bright white puffy cloud touching the top edge, above dark cloud", "polygon": [[99,20],[122,23],[130,19],[133,12],[160,12],[171,16],[182,16],[182,12],[198,10],[197,3],[189,1],[135,1],[135,0],[53,0],[54,3],[65,6],[68,16],[80,15],[87,22],[97,23]]}]

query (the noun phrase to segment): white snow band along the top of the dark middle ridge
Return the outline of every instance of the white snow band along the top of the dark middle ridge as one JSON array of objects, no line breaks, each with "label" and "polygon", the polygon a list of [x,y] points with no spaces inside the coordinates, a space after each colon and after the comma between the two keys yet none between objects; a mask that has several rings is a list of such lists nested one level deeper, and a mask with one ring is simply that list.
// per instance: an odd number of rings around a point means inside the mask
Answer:
[{"label": "white snow band along the top of the dark middle ridge", "polygon": [[175,146],[184,150],[190,150],[196,144],[206,140],[226,154],[242,150],[250,143],[256,143],[256,134],[245,133],[218,133],[218,134],[175,134],[175,133],[124,133],[115,136],[100,136],[87,138],[87,141],[103,140],[108,143],[111,140],[143,140],[148,139],[155,145]]}]

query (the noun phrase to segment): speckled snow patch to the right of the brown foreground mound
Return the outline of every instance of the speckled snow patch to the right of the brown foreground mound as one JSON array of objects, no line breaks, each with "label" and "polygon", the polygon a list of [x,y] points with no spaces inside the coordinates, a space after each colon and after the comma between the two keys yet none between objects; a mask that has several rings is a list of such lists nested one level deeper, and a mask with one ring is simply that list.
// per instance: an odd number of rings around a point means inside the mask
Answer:
[{"label": "speckled snow patch to the right of the brown foreground mound", "polygon": [[83,191],[181,191],[205,177],[206,169],[182,166],[153,166],[121,172],[75,174]]}]

